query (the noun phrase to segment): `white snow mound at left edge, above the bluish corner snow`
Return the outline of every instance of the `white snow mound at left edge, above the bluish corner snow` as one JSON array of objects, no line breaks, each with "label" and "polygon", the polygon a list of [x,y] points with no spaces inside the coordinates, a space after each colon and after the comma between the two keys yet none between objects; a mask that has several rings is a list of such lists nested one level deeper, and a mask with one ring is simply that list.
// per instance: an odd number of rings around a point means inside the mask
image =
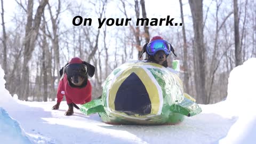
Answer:
[{"label": "white snow mound at left edge, above the bluish corner snow", "polygon": [[5,80],[4,80],[4,70],[0,65],[0,107],[5,107],[15,103],[15,100],[12,98],[12,95],[5,89]]}]

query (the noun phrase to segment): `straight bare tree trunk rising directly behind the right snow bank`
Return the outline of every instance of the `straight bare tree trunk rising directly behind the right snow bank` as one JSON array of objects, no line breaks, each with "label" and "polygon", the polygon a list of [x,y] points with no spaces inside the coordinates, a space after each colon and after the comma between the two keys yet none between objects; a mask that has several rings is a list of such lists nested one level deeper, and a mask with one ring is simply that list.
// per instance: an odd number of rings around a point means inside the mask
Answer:
[{"label": "straight bare tree trunk rising directly behind the right snow bank", "polygon": [[242,65],[242,50],[240,46],[240,37],[239,37],[239,18],[238,18],[238,6],[237,0],[234,0],[234,28],[235,28],[235,59],[236,66]]}]

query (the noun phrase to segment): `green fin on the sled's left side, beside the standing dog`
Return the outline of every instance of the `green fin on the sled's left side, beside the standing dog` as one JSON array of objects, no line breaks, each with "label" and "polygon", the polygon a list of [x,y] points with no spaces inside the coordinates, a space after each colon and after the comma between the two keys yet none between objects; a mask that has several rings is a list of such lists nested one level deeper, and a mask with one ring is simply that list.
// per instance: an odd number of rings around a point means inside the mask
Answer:
[{"label": "green fin on the sled's left side, beside the standing dog", "polygon": [[80,107],[80,110],[85,115],[105,112],[104,107],[102,106],[101,99],[94,99],[90,102],[85,103]]}]

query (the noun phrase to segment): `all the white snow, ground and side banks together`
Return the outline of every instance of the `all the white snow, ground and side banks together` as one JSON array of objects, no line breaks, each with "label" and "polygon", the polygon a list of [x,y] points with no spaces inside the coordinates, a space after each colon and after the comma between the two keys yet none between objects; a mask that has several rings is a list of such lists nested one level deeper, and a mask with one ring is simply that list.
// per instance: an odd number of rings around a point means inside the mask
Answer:
[{"label": "all the white snow, ground and side banks together", "polygon": [[[4,89],[1,69],[0,108],[3,107],[18,121],[23,129],[17,129],[18,132],[31,143],[254,143],[255,66],[256,58],[235,68],[230,74],[227,100],[214,105],[200,105],[201,114],[186,117],[179,125],[109,125],[102,123],[97,114],[85,116],[76,109],[75,115],[65,116],[68,107],[64,101],[59,110],[52,110],[55,102],[13,99]],[[15,130],[3,126],[13,125],[11,121],[14,120],[1,121],[2,117],[6,115],[0,113],[1,143],[24,143],[15,140],[17,137],[12,134]]]}]

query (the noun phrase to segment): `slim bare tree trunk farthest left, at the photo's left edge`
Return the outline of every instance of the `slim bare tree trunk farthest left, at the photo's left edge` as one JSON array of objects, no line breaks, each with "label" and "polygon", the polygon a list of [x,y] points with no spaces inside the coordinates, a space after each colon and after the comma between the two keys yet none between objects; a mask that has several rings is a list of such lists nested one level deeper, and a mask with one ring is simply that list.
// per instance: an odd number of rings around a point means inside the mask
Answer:
[{"label": "slim bare tree trunk farthest left, at the photo's left edge", "polygon": [[[5,33],[5,26],[4,26],[4,3],[3,0],[1,0],[1,5],[2,5],[2,13],[1,13],[1,17],[2,17],[2,28],[3,28],[3,46],[4,46],[4,60],[3,60],[3,69],[4,69],[4,73],[5,75],[7,75],[7,46],[6,46],[6,33]],[[5,76],[6,77],[6,76]]]}]

